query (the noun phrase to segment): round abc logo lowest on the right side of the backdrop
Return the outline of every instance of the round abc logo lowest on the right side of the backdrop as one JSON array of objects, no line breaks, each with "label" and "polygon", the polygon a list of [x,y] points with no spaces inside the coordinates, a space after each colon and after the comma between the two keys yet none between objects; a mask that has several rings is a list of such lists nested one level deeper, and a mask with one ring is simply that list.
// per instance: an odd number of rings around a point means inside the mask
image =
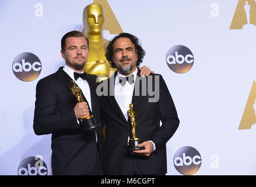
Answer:
[{"label": "round abc logo lowest on the right side of the backdrop", "polygon": [[202,163],[199,152],[189,146],[180,148],[174,155],[173,164],[183,175],[192,175],[198,171]]}]

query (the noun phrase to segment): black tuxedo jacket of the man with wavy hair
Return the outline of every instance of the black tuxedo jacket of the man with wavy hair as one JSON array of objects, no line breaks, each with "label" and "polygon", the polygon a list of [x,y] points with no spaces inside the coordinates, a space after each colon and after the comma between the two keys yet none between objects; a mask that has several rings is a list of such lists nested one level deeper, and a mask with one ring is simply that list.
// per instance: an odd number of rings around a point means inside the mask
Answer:
[{"label": "black tuxedo jacket of the man with wavy hair", "polygon": [[[140,70],[138,70],[138,76]],[[117,75],[117,72],[113,75]],[[179,119],[168,88],[159,74],[151,74],[153,90],[156,77],[159,78],[159,101],[148,102],[152,94],[148,91],[142,93],[142,81],[136,78],[135,87],[139,84],[139,95],[132,97],[136,117],[136,137],[142,138],[142,141],[152,140],[155,143],[156,150],[149,157],[134,158],[138,163],[139,169],[145,175],[165,174],[167,172],[166,162],[166,143],[175,133],[179,126]],[[112,77],[112,80],[115,78]],[[114,86],[111,88],[110,79],[101,84],[108,84],[108,95],[114,93]],[[107,84],[106,84],[107,82]],[[148,85],[149,77],[145,77]],[[128,84],[128,83],[127,83]],[[113,84],[112,84],[113,85]],[[107,87],[105,87],[107,88]],[[105,89],[103,87],[103,89]],[[144,89],[145,91],[145,89]],[[152,97],[153,98],[153,97]],[[104,145],[104,169],[107,175],[121,175],[124,168],[125,158],[127,157],[127,140],[131,137],[131,123],[127,122],[115,96],[101,96],[101,115],[106,124],[105,145]],[[160,127],[160,120],[162,126]]]}]

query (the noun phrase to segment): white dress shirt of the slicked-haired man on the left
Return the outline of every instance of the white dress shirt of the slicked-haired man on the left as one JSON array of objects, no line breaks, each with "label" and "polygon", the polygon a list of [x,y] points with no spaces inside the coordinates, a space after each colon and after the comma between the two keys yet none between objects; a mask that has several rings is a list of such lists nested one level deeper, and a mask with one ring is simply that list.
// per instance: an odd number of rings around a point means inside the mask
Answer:
[{"label": "white dress shirt of the slicked-haired man on the left", "polygon": [[[84,96],[86,97],[86,99],[88,101],[87,104],[88,104],[88,106],[90,106],[90,109],[91,109],[91,112],[92,112],[93,108],[91,106],[91,92],[90,92],[90,86],[89,86],[88,82],[86,80],[82,79],[81,77],[78,77],[78,79],[75,80],[74,79],[74,70],[72,70],[66,64],[63,67],[63,71],[65,71],[69,75],[69,77],[71,79],[73,79],[76,82],[77,86],[81,89],[81,91],[83,92]],[[77,119],[77,123],[79,124],[78,119]],[[96,142],[98,142],[96,131],[95,131],[95,134],[96,134]]]}]

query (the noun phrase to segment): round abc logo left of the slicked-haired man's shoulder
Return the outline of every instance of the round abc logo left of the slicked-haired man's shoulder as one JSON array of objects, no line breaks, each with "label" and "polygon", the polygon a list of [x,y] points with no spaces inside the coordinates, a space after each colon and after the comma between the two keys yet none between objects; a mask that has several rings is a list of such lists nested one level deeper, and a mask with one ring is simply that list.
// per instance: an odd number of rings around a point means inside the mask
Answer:
[{"label": "round abc logo left of the slicked-haired man's shoulder", "polygon": [[21,81],[33,81],[42,70],[42,64],[33,53],[21,53],[12,63],[13,74]]}]

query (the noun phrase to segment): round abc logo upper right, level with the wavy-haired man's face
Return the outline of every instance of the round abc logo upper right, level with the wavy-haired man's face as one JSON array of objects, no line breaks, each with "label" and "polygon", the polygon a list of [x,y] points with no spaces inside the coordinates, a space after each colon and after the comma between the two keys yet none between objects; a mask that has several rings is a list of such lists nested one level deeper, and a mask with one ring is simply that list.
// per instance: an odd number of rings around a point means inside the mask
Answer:
[{"label": "round abc logo upper right, level with the wavy-haired man's face", "polygon": [[170,70],[183,74],[192,68],[194,56],[185,46],[174,46],[166,54],[166,63]]}]

